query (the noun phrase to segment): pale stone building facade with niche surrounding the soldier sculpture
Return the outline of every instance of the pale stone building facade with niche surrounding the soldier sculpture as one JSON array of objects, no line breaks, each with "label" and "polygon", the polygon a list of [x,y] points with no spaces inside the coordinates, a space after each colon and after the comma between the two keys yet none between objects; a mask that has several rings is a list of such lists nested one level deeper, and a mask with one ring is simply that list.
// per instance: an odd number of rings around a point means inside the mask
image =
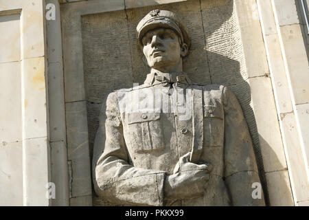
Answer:
[{"label": "pale stone building facade with niche surrounding the soldier sculpture", "polygon": [[240,101],[266,204],[308,206],[308,5],[0,0],[0,205],[106,205],[91,180],[100,106],[143,83],[136,25],[159,8],[181,14],[192,34],[190,78],[226,85]]}]

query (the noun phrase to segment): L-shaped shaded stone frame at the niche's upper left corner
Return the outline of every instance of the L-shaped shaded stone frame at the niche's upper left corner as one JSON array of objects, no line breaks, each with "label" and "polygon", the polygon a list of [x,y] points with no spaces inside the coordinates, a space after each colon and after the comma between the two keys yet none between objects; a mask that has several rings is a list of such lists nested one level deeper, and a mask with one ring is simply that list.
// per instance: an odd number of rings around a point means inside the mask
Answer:
[{"label": "L-shaped shaded stone frame at the niche's upper left corner", "polygon": [[124,10],[123,0],[78,1],[61,5],[62,45],[64,45],[63,63],[65,64],[65,102],[86,99],[82,62],[82,15],[115,10]]}]

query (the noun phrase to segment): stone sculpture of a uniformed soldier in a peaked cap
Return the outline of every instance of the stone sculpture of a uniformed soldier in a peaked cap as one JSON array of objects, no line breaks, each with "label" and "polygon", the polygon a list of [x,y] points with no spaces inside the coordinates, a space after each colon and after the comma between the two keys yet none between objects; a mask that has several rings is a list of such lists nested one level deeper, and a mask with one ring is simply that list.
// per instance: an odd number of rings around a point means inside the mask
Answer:
[{"label": "stone sculpture of a uniformed soldier in a peaked cap", "polygon": [[260,179],[236,96],[183,72],[190,34],[181,19],[153,10],[137,25],[137,39],[151,71],[102,107],[96,193],[118,205],[264,205],[252,196]]}]

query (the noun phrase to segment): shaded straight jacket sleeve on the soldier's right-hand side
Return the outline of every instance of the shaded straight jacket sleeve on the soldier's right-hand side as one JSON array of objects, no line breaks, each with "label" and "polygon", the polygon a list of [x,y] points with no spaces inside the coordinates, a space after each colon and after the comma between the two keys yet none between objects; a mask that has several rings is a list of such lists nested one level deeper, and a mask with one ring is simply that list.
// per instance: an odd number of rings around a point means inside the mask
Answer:
[{"label": "shaded straight jacket sleeve on the soldier's right-hand side", "polygon": [[[225,181],[233,206],[264,206],[264,196],[247,122],[236,96],[223,89],[225,111]],[[260,199],[253,192],[258,183]],[[255,199],[254,199],[254,198]]]}]

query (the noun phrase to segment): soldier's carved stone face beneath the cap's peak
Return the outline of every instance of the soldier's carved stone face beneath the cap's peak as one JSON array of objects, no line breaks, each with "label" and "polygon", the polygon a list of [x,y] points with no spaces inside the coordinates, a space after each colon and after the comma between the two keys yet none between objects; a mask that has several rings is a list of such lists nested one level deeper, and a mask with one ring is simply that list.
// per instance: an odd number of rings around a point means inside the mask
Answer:
[{"label": "soldier's carved stone face beneath the cap's peak", "polygon": [[144,35],[142,43],[150,68],[162,69],[182,62],[179,36],[171,29],[150,30]]}]

